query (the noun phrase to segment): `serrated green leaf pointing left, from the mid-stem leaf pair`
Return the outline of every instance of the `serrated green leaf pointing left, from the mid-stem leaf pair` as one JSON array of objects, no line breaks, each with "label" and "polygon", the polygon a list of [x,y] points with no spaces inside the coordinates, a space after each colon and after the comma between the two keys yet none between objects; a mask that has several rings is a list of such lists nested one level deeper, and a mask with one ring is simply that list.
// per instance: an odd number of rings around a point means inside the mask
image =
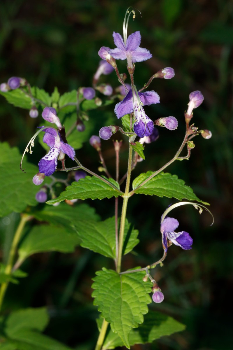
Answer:
[{"label": "serrated green leaf pointing left, from the mid-stem leaf pair", "polygon": [[[104,176],[102,177],[105,178]],[[118,197],[119,195],[122,195],[122,192],[119,189],[119,184],[115,180],[108,179],[108,182],[113,184],[115,188],[112,188],[108,183],[102,181],[98,177],[86,176],[78,182],[72,182],[71,186],[67,186],[66,190],[61,192],[59,197],[50,200],[47,203],[53,204],[64,201],[65,199],[72,200],[77,198],[82,200],[87,198],[98,198],[101,200],[103,198],[111,198],[113,196]]]}]

